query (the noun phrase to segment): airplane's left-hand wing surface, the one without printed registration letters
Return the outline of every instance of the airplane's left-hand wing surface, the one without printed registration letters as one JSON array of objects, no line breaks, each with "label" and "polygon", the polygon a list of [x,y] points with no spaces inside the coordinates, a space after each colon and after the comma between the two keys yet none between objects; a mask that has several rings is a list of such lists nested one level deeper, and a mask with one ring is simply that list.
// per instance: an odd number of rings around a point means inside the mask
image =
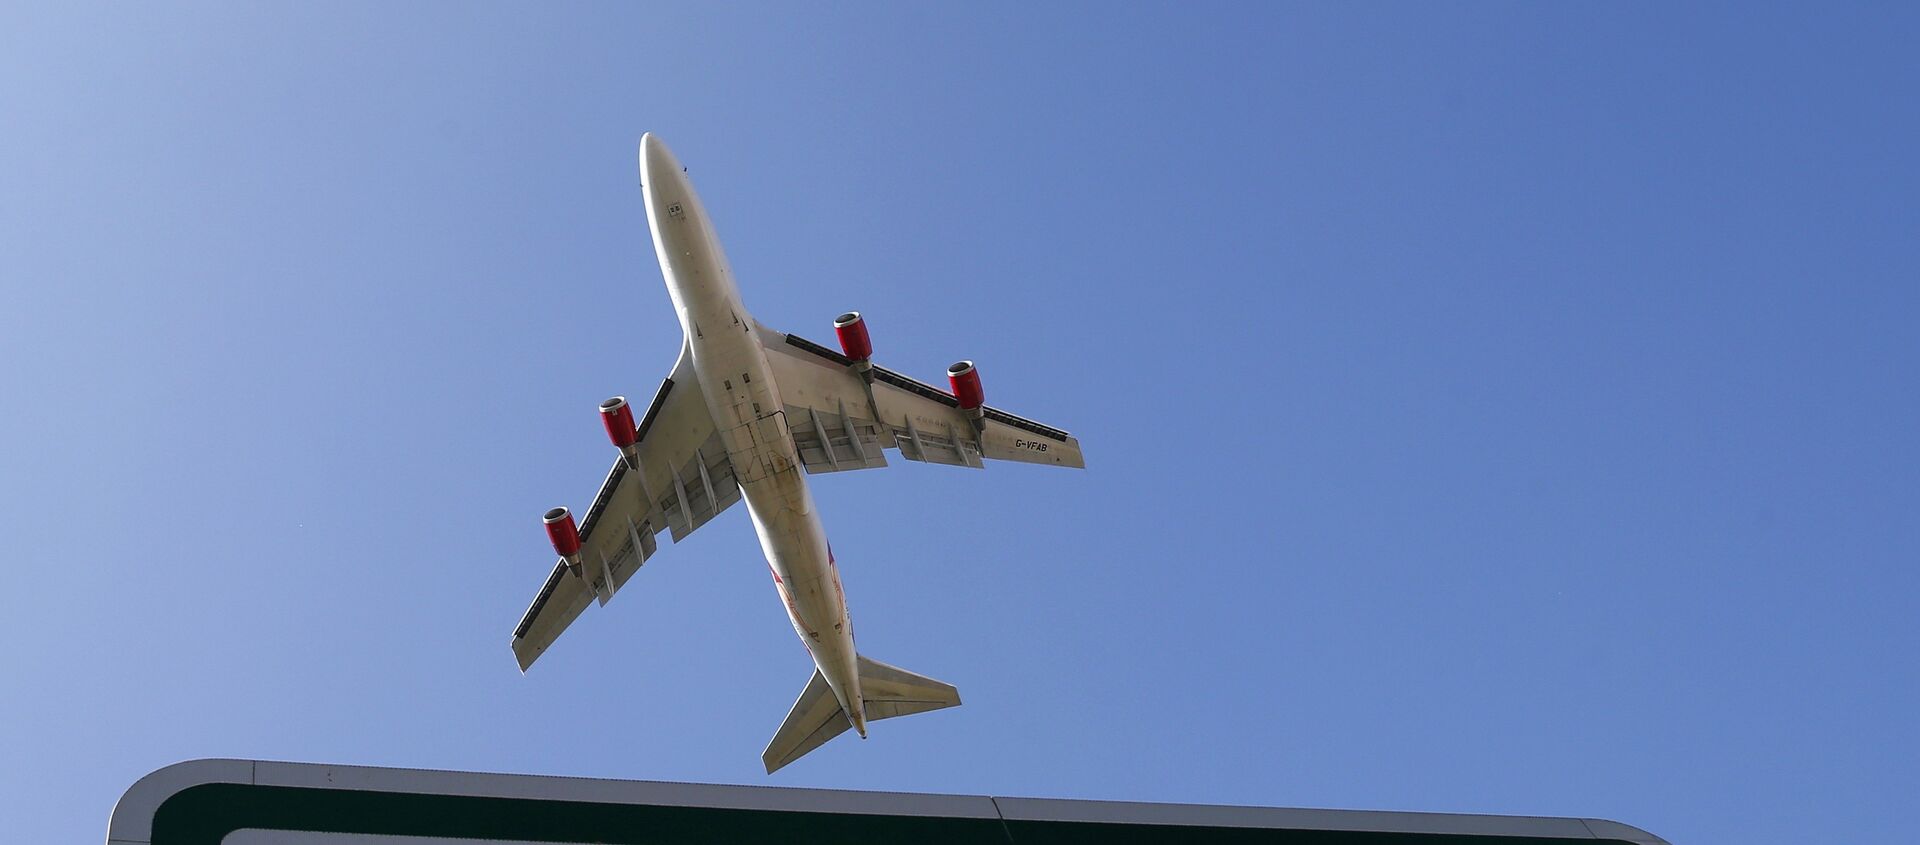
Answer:
[{"label": "airplane's left-hand wing surface, the one without printed registration letters", "polygon": [[522,672],[588,601],[605,605],[639,570],[657,547],[655,534],[666,530],[678,543],[739,501],[733,463],[693,376],[691,346],[680,348],[680,361],[641,417],[637,446],[639,471],[628,467],[624,455],[614,459],[580,522],[580,574],[559,559],[513,630],[513,655]]}]

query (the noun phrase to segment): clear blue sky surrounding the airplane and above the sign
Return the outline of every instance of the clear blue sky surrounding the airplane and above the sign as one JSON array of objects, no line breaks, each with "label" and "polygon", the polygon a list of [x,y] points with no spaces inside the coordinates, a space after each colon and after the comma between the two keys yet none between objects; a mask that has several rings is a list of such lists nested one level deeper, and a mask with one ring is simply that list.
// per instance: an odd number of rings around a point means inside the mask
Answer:
[{"label": "clear blue sky surrounding the airplane and above the sign", "polygon": [[[1910,841],[1910,10],[0,12],[0,818],[261,757]],[[747,515],[520,676],[540,511],[747,303],[1091,469],[814,480],[966,707],[766,778]]]}]

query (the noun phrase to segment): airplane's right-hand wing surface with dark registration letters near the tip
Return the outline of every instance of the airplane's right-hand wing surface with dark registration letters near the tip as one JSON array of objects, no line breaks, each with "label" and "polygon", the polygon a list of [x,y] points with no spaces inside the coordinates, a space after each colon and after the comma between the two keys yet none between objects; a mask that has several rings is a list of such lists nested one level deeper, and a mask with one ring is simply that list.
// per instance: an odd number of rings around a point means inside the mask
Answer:
[{"label": "airplane's right-hand wing surface with dark registration letters near the tip", "polygon": [[879,365],[868,382],[839,351],[766,326],[758,334],[808,472],[885,467],[885,449],[954,467],[985,467],[983,459],[1087,467],[1079,440],[1060,428],[987,407],[975,432],[945,390]]}]

